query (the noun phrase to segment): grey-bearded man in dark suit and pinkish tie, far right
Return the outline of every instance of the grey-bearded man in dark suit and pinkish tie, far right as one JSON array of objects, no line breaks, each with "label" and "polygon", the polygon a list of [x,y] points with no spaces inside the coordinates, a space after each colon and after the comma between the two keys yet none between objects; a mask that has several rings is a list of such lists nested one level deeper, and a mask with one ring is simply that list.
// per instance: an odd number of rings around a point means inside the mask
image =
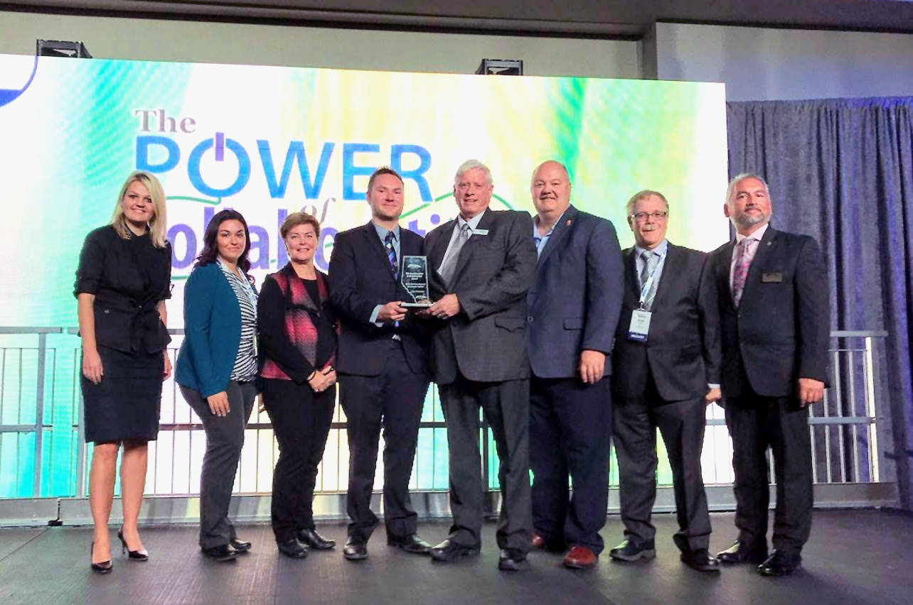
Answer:
[{"label": "grey-bearded man in dark suit and pinkish tie, far right", "polygon": [[[812,528],[808,405],[822,399],[828,376],[827,272],[813,238],[769,226],[770,191],[760,176],[732,179],[723,212],[736,239],[711,252],[710,261],[719,292],[739,538],[718,557],[724,563],[763,560],[762,575],[782,576],[799,567]],[[770,558],[768,447],[777,483]]]}]

